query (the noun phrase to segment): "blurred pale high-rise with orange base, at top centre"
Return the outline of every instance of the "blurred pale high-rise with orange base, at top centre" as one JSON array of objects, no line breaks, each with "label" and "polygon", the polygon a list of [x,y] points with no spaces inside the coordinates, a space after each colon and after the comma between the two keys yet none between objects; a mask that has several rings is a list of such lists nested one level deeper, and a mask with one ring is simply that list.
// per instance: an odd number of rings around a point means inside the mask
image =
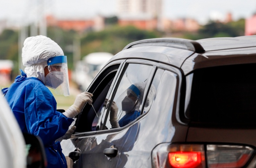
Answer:
[{"label": "blurred pale high-rise with orange base, at top centre", "polygon": [[162,29],[162,0],[117,0],[120,25]]}]

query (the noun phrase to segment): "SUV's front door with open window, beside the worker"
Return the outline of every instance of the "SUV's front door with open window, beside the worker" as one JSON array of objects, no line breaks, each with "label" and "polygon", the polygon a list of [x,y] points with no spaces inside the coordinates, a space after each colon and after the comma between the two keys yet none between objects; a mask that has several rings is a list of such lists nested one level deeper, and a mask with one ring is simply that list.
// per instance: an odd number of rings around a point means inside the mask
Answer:
[{"label": "SUV's front door with open window, beside the worker", "polygon": [[76,125],[76,130],[72,137],[61,141],[62,153],[66,156],[68,167],[82,167],[81,156],[83,155],[81,153],[84,149],[88,149],[92,136],[96,134],[96,124],[101,111],[100,103],[105,100],[109,90],[112,90],[114,81],[116,81],[118,73],[123,67],[123,62],[115,61],[110,63],[99,72],[89,86],[88,91],[93,93],[93,106],[98,113],[95,113],[91,105],[86,104],[72,123]]}]

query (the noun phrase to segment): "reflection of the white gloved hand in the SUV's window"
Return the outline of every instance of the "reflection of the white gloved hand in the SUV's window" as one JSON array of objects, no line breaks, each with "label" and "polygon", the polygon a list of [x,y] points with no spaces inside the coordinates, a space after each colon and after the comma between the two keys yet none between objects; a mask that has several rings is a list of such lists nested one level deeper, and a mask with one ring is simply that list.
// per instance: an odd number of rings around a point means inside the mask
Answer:
[{"label": "reflection of the white gloved hand in the SUV's window", "polygon": [[[107,106],[108,99],[105,99],[104,107]],[[106,107],[107,108],[107,107]],[[116,103],[113,101],[110,107],[109,121],[112,128],[119,128],[118,119],[117,119],[118,107]]]}]

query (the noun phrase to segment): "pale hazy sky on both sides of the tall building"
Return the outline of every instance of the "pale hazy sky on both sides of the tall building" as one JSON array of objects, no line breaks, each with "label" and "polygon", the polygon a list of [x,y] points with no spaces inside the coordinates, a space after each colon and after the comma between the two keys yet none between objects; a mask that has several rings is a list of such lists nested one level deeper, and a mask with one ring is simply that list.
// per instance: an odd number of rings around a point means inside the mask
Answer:
[{"label": "pale hazy sky on both sides of the tall building", "polygon": [[[44,2],[45,8],[36,7]],[[59,18],[84,18],[96,14],[116,14],[116,0],[0,0],[0,20],[28,22],[40,12]],[[39,5],[38,5],[39,4]],[[231,12],[233,19],[246,18],[256,12],[255,0],[163,0],[163,15],[170,19],[189,17],[205,23],[224,19]]]}]

